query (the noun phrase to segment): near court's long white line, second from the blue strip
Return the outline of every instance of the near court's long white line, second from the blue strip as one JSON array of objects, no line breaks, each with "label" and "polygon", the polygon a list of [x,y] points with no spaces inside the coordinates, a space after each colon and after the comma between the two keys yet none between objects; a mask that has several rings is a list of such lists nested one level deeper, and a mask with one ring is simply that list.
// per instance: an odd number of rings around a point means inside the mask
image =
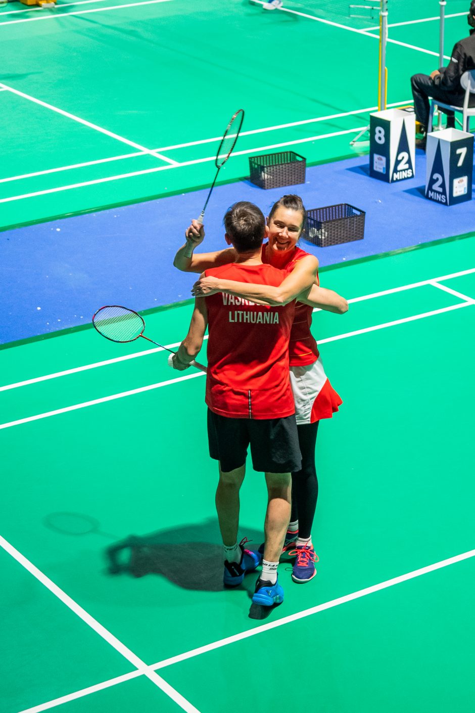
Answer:
[{"label": "near court's long white line, second from the blue strip", "polygon": [[[347,339],[348,337],[357,337],[359,334],[367,334],[368,332],[376,332],[377,329],[385,329],[386,327],[395,327],[397,324],[405,324],[406,322],[414,322],[416,319],[424,319],[425,317],[434,317],[436,314],[444,314],[444,312],[453,312],[454,309],[461,309],[462,307],[471,307],[475,304],[475,300],[472,302],[461,302],[461,304],[452,304],[450,307],[442,307],[442,309],[433,309],[431,312],[424,312],[422,314],[414,314],[412,317],[403,317],[402,319],[394,319],[392,322],[384,322],[384,324],[376,324],[374,327],[364,327],[363,329],[355,329],[354,332],[346,332],[345,334],[337,334],[335,337],[327,337],[326,339],[319,339],[318,344],[328,344],[328,342],[337,342],[339,339]],[[120,394],[113,394],[112,396],[103,396],[100,399],[93,399],[92,401],[85,401],[83,404],[74,404],[74,406],[65,406],[63,409],[55,409],[54,411],[46,411],[44,414],[36,414],[36,416],[26,416],[24,419],[18,419],[17,421],[9,421],[6,424],[0,424],[1,429],[9,429],[12,426],[21,426],[21,424],[28,424],[31,421],[38,421],[40,419],[48,419],[50,416],[58,416],[58,414],[67,414],[69,411],[77,411],[78,409],[85,409],[88,406],[97,406],[98,404],[104,404],[107,401],[115,401],[115,399],[123,399],[125,396],[133,396],[135,394],[142,394],[145,391],[152,391],[152,389],[160,389],[161,386],[169,386],[169,384],[176,384],[179,381],[184,381],[185,379],[194,379],[197,376],[204,376],[203,371],[197,372],[197,374],[190,374],[189,376],[181,376],[177,379],[169,379],[169,381],[160,381],[158,384],[150,384],[149,386],[140,386],[138,389],[131,389],[130,391],[122,391]]]}]

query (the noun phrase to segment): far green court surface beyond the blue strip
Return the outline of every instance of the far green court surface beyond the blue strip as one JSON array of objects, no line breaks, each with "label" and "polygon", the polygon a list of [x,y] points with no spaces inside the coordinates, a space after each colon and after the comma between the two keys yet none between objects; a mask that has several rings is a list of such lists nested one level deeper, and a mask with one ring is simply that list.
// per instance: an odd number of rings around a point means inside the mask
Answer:
[{"label": "far green court surface beyond the blue strip", "polygon": [[[466,0],[448,0],[446,13],[449,56],[467,34]],[[390,106],[411,99],[413,73],[438,66],[437,16],[437,0],[390,1]],[[9,3],[0,229],[209,185],[216,141],[240,107],[244,133],[220,182],[279,148],[310,164],[364,153],[365,137],[349,142],[377,104],[377,25],[334,0],[271,13],[248,0]]]}]

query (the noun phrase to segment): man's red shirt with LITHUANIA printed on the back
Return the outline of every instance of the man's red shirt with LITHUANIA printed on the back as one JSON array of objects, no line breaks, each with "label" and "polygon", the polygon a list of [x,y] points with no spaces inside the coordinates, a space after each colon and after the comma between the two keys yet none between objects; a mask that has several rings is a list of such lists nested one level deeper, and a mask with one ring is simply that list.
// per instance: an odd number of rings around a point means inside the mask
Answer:
[{"label": "man's red shirt with LITHUANIA printed on the back", "polygon": [[[206,270],[205,275],[277,287],[286,272],[271,265],[231,263]],[[234,419],[277,419],[294,414],[288,340],[295,302],[268,307],[223,292],[206,301],[209,408]]]}]

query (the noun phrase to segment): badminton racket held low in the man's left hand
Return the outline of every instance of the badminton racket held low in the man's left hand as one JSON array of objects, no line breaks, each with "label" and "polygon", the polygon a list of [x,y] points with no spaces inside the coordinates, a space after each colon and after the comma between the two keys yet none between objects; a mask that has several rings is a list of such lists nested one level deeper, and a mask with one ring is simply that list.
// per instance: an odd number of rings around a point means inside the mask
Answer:
[{"label": "badminton racket held low in the man's left hand", "polygon": [[[143,339],[147,339],[147,342],[157,344],[157,347],[166,349],[171,354],[177,353],[168,347],[164,347],[163,344],[154,342],[150,337],[145,337],[145,334],[143,334],[145,329],[143,317],[140,317],[140,314],[134,312],[133,309],[120,307],[119,304],[106,304],[105,307],[100,307],[93,315],[93,325],[101,337],[110,339],[110,342],[123,344],[125,342],[134,342],[135,339],[143,337]],[[170,361],[168,363],[170,364]],[[206,373],[207,368],[203,364],[199,364],[194,360],[189,363]]]}]

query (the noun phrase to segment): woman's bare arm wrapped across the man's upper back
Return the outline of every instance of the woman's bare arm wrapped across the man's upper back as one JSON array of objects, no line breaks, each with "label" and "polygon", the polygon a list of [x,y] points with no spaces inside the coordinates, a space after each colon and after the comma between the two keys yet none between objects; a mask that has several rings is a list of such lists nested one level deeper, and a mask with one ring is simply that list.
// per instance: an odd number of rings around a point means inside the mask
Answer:
[{"label": "woman's bare arm wrapped across the man's upper back", "polygon": [[296,267],[278,287],[252,284],[251,282],[235,282],[232,279],[220,279],[219,277],[200,277],[198,282],[193,285],[192,294],[226,292],[226,294],[234,294],[235,297],[250,299],[251,302],[279,307],[292,302],[301,292],[305,292],[315,283],[318,284],[318,260],[313,255],[307,255],[297,262]]}]

